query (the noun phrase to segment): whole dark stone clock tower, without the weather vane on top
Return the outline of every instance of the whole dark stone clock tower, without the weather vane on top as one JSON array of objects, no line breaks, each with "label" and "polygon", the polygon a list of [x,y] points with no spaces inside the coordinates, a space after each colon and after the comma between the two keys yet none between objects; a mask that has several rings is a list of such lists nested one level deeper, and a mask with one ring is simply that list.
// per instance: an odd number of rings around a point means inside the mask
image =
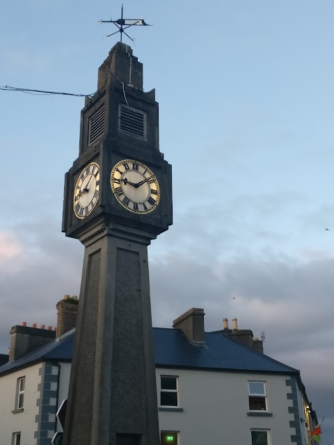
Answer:
[{"label": "whole dark stone clock tower, without the weather vane on top", "polygon": [[172,224],[154,90],[118,42],[81,111],[63,232],[85,246],[65,445],[158,445],[148,245]]}]

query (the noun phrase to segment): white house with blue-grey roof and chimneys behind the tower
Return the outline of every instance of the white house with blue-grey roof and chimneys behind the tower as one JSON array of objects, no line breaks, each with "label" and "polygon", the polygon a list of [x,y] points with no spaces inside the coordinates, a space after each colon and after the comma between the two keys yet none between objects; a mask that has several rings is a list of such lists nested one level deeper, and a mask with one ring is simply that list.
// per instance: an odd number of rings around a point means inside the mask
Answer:
[{"label": "white house with blue-grey roof and chimneys behind the tower", "polygon": [[[10,331],[9,362],[0,367],[1,444],[49,445],[61,431],[56,411],[67,398],[77,312],[66,297],[57,332]],[[153,328],[161,445],[310,445],[317,417],[299,371],[264,355],[236,321],[232,330],[225,321],[224,330],[205,332],[204,316],[190,309],[173,328]]]}]

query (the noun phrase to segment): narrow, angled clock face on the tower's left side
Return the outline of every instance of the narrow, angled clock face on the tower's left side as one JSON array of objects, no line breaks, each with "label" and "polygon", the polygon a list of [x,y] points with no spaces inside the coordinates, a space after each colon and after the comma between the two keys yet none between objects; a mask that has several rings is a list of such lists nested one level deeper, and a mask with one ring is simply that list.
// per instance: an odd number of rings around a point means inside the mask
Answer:
[{"label": "narrow, angled clock face on the tower's left side", "polygon": [[82,170],[74,187],[73,209],[77,218],[82,220],[93,211],[99,199],[99,190],[100,167],[91,162]]}]

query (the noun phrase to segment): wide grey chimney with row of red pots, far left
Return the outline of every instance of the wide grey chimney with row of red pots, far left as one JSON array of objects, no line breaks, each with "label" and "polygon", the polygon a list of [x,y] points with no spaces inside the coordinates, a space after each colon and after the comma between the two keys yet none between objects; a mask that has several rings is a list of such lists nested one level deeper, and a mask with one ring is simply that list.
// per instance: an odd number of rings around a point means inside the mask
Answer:
[{"label": "wide grey chimney with row of red pots, far left", "polygon": [[16,360],[40,345],[54,340],[56,333],[38,327],[13,326],[10,330],[9,360]]}]

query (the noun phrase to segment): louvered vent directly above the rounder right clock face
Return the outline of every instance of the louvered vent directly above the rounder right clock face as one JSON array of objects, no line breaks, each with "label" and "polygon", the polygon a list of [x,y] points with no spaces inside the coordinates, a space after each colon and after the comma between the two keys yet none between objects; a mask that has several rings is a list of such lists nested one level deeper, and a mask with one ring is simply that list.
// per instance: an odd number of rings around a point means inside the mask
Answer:
[{"label": "louvered vent directly above the rounder right clock face", "polygon": [[146,113],[120,105],[118,129],[136,138],[146,139]]}]

